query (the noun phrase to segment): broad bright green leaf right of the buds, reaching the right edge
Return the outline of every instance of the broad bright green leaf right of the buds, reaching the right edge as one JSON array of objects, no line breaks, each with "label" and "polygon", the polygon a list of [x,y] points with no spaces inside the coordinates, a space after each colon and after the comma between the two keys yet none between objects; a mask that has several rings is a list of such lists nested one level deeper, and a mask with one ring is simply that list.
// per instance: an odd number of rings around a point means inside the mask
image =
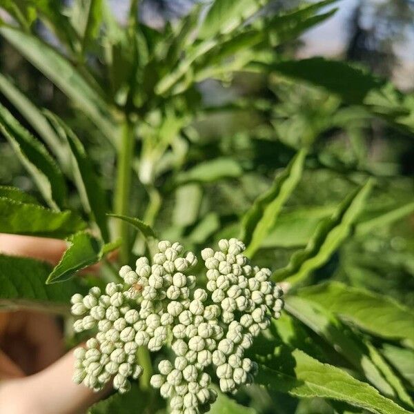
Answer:
[{"label": "broad bright green leaf right of the buds, reaching the right edge", "polygon": [[299,295],[321,304],[345,322],[373,335],[414,342],[413,311],[390,297],[339,282],[302,288]]}]

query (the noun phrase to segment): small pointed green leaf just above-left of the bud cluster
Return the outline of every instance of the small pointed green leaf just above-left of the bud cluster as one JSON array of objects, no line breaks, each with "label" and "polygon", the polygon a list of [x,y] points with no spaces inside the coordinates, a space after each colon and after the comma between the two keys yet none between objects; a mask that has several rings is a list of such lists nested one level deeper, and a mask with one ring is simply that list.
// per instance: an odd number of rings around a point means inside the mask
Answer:
[{"label": "small pointed green leaf just above-left of the bud cluster", "polygon": [[46,281],[47,284],[69,279],[79,270],[99,262],[103,255],[120,246],[120,240],[102,244],[101,241],[85,232],[73,235],[69,242],[70,246],[63,254],[61,261],[50,273]]}]

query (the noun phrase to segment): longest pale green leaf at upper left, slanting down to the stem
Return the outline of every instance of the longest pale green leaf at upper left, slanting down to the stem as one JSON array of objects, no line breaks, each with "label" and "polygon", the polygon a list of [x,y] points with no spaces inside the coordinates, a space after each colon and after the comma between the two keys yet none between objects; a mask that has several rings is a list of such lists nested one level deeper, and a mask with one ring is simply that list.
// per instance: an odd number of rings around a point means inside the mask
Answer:
[{"label": "longest pale green leaf at upper left, slanting down to the stem", "polygon": [[73,103],[95,122],[110,141],[115,141],[117,135],[115,124],[112,122],[106,103],[65,58],[30,34],[4,26],[0,28],[0,33],[32,65],[72,99]]}]

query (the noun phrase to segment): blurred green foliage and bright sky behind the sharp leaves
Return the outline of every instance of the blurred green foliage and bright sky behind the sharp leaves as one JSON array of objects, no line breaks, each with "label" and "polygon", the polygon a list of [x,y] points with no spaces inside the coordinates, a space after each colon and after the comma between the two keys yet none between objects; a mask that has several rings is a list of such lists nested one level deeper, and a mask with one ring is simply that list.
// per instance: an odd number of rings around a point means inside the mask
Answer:
[{"label": "blurred green foliage and bright sky behind the sharp leaves", "polygon": [[[30,8],[22,6],[24,1],[12,3],[20,12],[26,10],[22,21],[23,24],[30,23],[30,31],[60,49],[89,83],[95,85],[95,79],[98,79],[103,99],[115,108],[133,108],[131,112],[143,117],[137,126],[137,136],[141,139],[134,149],[136,157],[132,168],[135,173],[129,195],[129,215],[151,224],[161,238],[180,239],[188,248],[204,246],[224,236],[237,236],[239,217],[269,188],[277,172],[288,164],[295,152],[308,148],[302,178],[255,255],[255,261],[273,269],[286,266],[292,253],[308,244],[322,219],[331,216],[336,206],[359,184],[374,177],[375,188],[358,219],[359,223],[365,224],[372,219],[372,227],[346,239],[328,262],[312,273],[306,284],[319,284],[328,279],[344,282],[347,286],[392,297],[413,308],[413,128],[387,123],[373,116],[373,112],[357,101],[346,102],[346,99],[311,83],[260,70],[237,71],[233,76],[228,73],[211,76],[215,79],[202,80],[187,89],[184,85],[183,95],[166,101],[154,97],[156,79],[152,79],[151,71],[159,70],[166,75],[166,70],[173,72],[177,68],[177,60],[169,67],[166,64],[166,68],[143,66],[142,73],[138,71],[136,76],[146,79],[146,83],[141,83],[145,88],[131,95],[134,82],[128,85],[119,81],[128,79],[126,72],[137,53],[140,59],[146,59],[145,52],[140,49],[141,39],[135,39],[135,43],[129,38],[134,34],[128,30],[117,33],[117,26],[112,27],[120,46],[112,48],[114,72],[110,72],[103,64],[103,56],[108,52],[105,43],[93,42],[83,45],[85,48],[71,43],[76,37],[65,32],[66,26],[61,26],[61,32],[50,28],[47,21],[51,17],[47,13],[46,19],[38,20],[30,14]],[[48,4],[47,1],[44,3]],[[82,7],[88,2],[75,3],[75,9],[71,1],[62,1],[61,10],[45,10],[60,12],[62,17],[74,23],[74,30],[85,30]],[[7,1],[0,4],[6,10],[10,6]],[[112,14],[121,24],[135,18],[128,14],[129,1],[110,1],[108,4],[110,9],[106,13]],[[273,12],[284,12],[298,4],[298,1],[274,1],[268,7]],[[157,54],[159,33],[175,30],[177,19],[186,16],[195,6],[195,1],[186,0],[142,1],[139,6],[142,30],[146,39],[154,41],[147,45],[147,52]],[[394,79],[406,96],[413,98],[414,77],[409,71],[413,61],[406,61],[405,55],[400,53],[402,48],[414,50],[413,2],[343,0],[338,7],[348,10],[346,32],[341,34],[344,44],[329,55],[369,68],[386,79]],[[270,9],[265,12],[270,13]],[[6,19],[7,14],[2,17]],[[33,24],[31,18],[35,19]],[[323,45],[324,34],[326,31],[323,30],[319,37],[314,33],[311,39],[316,36],[317,42]],[[63,38],[66,48],[69,44],[73,46],[72,50],[63,49]],[[273,52],[286,59],[310,57],[314,51],[308,41],[306,36],[301,36],[275,42]],[[172,52],[179,56],[179,52]],[[318,54],[323,52],[323,48],[317,50]],[[159,54],[162,55],[161,50]],[[262,58],[266,61],[266,56]],[[167,60],[165,56],[163,59]],[[90,72],[83,72],[85,63]],[[202,72],[203,68],[200,70]],[[56,81],[48,80],[4,37],[0,38],[0,72],[12,77],[19,90],[37,107],[59,115],[77,132],[110,201],[117,161],[113,143],[105,137],[108,131],[92,124],[83,110],[79,110],[77,102],[67,99],[55,86]],[[402,72],[406,75],[401,75]],[[207,75],[205,77],[210,78]],[[391,95],[384,99],[392,101]],[[0,95],[0,101],[12,110],[21,124],[37,133],[6,96]],[[115,118],[117,116],[115,111]],[[163,143],[163,139],[166,142]],[[0,183],[17,186],[39,197],[10,145],[2,138]],[[75,186],[69,190],[69,206],[76,209],[81,201]],[[399,210],[403,208],[406,210]],[[384,215],[387,212],[391,212],[391,216]],[[382,217],[383,222],[375,225],[375,217]],[[137,237],[133,246],[131,242],[131,248],[136,254],[142,253],[142,239]],[[317,337],[306,324],[286,314],[280,326],[284,332],[274,333],[276,343],[289,330],[300,331],[314,341],[315,352],[311,355],[322,361],[335,361],[351,370],[346,358],[333,350],[328,351],[324,339]],[[372,340],[385,357],[391,357],[397,349],[391,340]],[[413,359],[411,353],[405,360],[411,363]],[[400,368],[394,369],[399,371]],[[410,391],[414,386],[412,373],[404,378]],[[348,407],[328,404],[321,398],[299,402],[295,397],[268,393],[256,387],[238,395],[237,399],[262,413],[351,412],[347,411]]]}]

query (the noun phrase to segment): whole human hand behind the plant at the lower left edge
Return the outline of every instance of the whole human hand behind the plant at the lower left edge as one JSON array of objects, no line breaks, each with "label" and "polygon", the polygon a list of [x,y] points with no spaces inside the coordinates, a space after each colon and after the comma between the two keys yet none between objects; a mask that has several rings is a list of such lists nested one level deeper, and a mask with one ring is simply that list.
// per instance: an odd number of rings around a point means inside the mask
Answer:
[{"label": "whole human hand behind the plant at the lower left edge", "polygon": [[[61,240],[0,235],[0,253],[8,255],[55,264],[65,249]],[[99,400],[104,392],[72,382],[75,357],[63,352],[55,317],[0,312],[0,414],[77,414]]]}]

